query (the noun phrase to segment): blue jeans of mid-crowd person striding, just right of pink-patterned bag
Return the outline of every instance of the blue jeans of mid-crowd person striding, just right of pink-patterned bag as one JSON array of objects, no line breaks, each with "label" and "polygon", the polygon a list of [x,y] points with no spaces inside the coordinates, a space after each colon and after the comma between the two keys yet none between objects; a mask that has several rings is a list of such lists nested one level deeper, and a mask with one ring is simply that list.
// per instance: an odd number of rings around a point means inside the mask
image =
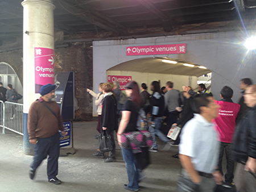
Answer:
[{"label": "blue jeans of mid-crowd person striding, just right of pink-patterned bag", "polygon": [[154,118],[155,126],[152,126],[151,124],[150,127],[148,128],[148,131],[151,133],[151,136],[153,138],[153,145],[152,145],[153,149],[158,149],[158,144],[156,144],[155,136],[158,136],[160,140],[164,141],[164,143],[167,143],[169,141],[167,136],[164,135],[162,131],[160,131],[160,128],[162,126],[162,121],[163,121],[162,117]]}]

